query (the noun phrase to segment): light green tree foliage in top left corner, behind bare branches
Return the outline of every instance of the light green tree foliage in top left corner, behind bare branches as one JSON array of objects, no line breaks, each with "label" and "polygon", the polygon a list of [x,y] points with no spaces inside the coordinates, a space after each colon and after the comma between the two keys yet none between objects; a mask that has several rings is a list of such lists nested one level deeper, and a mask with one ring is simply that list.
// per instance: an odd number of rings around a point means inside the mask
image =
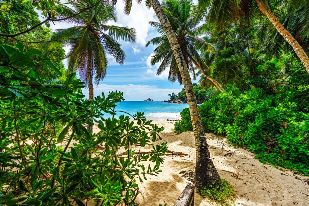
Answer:
[{"label": "light green tree foliage in top left corner, behind bare branches", "polygon": [[[6,3],[10,8],[10,12],[7,14],[6,19],[9,21],[0,20],[0,34],[15,34],[24,31],[28,26],[33,27],[40,23],[38,14],[34,11],[34,7],[31,4],[24,4],[22,0],[8,0]],[[49,36],[51,31],[49,28],[39,26],[36,30],[32,30],[18,36],[15,39],[27,42],[40,42]],[[17,40],[12,38],[0,37],[0,43],[15,46]],[[28,51],[29,49],[39,49],[39,43],[23,44],[23,49]],[[37,65],[35,68],[36,74],[44,76],[46,82],[61,82],[66,79],[66,69],[63,65],[63,58],[65,57],[65,51],[61,46],[54,47],[53,50],[43,51],[43,54],[49,57],[53,64],[60,70],[60,74],[50,69],[44,69],[43,66]]]}]

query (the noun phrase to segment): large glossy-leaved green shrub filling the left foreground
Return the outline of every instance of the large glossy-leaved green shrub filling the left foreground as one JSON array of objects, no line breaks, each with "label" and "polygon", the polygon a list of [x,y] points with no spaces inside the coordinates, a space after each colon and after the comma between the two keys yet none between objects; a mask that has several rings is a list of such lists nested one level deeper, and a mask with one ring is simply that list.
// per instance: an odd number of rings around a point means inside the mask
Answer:
[{"label": "large glossy-leaved green shrub filling the left foreground", "polygon": [[[24,51],[19,43],[0,50],[0,204],[134,204],[136,179],[159,174],[167,143],[139,151],[164,128],[141,112],[105,118],[115,115],[123,93],[85,99],[76,73],[63,84],[44,82],[33,70],[37,64],[59,70],[37,49]],[[99,130],[92,134],[85,125],[93,121]]]}]

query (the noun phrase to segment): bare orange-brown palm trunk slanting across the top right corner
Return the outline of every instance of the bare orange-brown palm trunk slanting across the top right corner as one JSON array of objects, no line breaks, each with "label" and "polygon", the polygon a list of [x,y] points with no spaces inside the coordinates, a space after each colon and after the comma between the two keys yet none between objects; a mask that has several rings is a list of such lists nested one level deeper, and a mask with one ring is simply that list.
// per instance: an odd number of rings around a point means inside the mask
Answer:
[{"label": "bare orange-brown palm trunk slanting across the top right corner", "polygon": [[267,18],[273,23],[279,34],[293,47],[300,61],[302,61],[307,73],[309,74],[309,58],[296,39],[286,30],[286,28],[280,23],[279,19],[269,11],[263,0],[256,0],[261,12],[267,16]]}]

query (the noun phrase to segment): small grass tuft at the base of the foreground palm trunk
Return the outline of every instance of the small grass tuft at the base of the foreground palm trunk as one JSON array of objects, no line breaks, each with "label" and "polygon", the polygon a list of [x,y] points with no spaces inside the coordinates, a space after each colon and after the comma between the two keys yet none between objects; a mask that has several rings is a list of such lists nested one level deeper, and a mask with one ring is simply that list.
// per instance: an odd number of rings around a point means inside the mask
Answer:
[{"label": "small grass tuft at the base of the foreground palm trunk", "polygon": [[233,202],[236,197],[233,187],[225,179],[220,179],[219,183],[214,182],[197,193],[218,205],[234,205]]}]

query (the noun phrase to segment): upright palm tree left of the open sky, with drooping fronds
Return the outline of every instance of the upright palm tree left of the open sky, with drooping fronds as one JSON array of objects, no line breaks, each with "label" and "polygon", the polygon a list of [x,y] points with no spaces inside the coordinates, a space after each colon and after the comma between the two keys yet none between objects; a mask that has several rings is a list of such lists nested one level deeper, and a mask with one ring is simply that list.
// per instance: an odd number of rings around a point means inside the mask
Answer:
[{"label": "upright palm tree left of the open sky, with drooping fronds", "polygon": [[[68,0],[70,7],[62,6],[58,9],[59,16],[65,18],[84,10],[88,5],[95,5],[97,0]],[[107,72],[108,60],[106,53],[123,64],[125,53],[117,40],[135,42],[134,28],[106,25],[108,21],[116,22],[116,8],[109,3],[100,2],[97,6],[68,19],[68,23],[76,26],[57,29],[47,38],[43,47],[59,44],[70,46],[66,55],[69,58],[68,73],[77,71],[79,78],[86,82],[89,100],[93,100],[93,79],[99,84]],[[88,126],[92,131],[92,126]]]}]

